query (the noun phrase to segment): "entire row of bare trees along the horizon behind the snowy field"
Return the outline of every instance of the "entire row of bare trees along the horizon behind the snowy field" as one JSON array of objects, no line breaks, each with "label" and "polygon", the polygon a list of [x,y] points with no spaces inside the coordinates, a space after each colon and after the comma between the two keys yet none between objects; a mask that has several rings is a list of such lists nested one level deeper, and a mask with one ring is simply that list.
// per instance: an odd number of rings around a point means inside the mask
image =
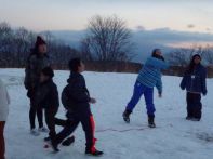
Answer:
[{"label": "entire row of bare trees along the horizon behind the snowy field", "polygon": [[[14,29],[5,22],[0,23],[0,66],[24,67],[38,35],[45,39],[49,55],[56,66],[65,66],[68,59],[76,56],[93,63],[132,62],[135,56],[132,52],[132,32],[123,19],[116,15],[96,15],[89,21],[86,30],[86,35],[79,41],[80,48],[74,49],[56,39],[50,31],[38,34],[24,27]],[[200,54],[207,65],[213,64],[211,47],[173,49],[167,53],[165,58],[173,66],[185,67],[195,53]]]}]

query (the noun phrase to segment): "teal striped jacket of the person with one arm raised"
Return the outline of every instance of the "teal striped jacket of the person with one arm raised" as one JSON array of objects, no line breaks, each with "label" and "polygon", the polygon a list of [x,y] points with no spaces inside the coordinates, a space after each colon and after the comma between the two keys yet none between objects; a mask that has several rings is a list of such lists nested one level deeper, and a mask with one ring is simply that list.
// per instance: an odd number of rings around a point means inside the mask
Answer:
[{"label": "teal striped jacket of the person with one arm raised", "polygon": [[156,57],[148,57],[145,65],[141,69],[137,81],[142,84],[158,89],[162,93],[161,70],[169,68],[169,64]]}]

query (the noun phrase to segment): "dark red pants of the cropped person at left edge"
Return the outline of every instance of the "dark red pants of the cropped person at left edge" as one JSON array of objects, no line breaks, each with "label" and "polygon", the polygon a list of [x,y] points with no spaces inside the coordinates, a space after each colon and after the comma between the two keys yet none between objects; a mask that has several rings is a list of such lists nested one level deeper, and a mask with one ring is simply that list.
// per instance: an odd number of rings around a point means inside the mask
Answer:
[{"label": "dark red pants of the cropped person at left edge", "polygon": [[0,159],[5,159],[4,157],[5,143],[4,143],[4,136],[3,136],[4,125],[5,125],[5,121],[0,121]]}]

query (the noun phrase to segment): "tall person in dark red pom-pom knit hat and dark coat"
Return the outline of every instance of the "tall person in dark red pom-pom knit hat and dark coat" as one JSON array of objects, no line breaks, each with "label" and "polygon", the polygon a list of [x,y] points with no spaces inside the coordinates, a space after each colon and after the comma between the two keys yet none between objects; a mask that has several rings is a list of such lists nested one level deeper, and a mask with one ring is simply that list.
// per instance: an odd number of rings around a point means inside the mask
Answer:
[{"label": "tall person in dark red pom-pom knit hat and dark coat", "polygon": [[[38,105],[35,105],[35,93],[39,84],[40,74],[44,67],[51,65],[50,57],[46,54],[46,43],[38,36],[35,48],[27,59],[27,65],[25,69],[25,88],[27,89],[27,96],[30,98],[30,110],[29,110],[29,121],[30,121],[30,133],[32,135],[39,135],[39,132],[46,132],[46,128],[43,127],[43,112]],[[36,129],[35,119],[36,115],[39,122],[39,130]]]}]

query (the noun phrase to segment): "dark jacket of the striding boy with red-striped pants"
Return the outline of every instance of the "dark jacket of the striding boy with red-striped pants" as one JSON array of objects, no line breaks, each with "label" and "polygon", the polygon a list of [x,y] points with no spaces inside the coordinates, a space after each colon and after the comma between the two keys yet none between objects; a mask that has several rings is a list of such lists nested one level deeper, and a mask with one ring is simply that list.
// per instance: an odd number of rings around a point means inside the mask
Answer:
[{"label": "dark jacket of the striding boy with red-striped pants", "polygon": [[71,72],[68,82],[69,102],[75,111],[90,111],[90,93],[85,85],[85,80],[81,74]]}]

